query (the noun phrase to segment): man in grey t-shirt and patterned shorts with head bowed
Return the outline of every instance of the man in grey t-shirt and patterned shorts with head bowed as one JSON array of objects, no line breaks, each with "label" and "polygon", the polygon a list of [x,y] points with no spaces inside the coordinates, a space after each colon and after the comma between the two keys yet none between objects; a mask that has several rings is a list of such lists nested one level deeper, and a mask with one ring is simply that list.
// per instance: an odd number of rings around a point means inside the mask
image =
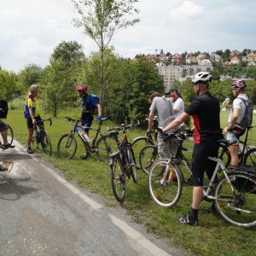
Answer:
[{"label": "man in grey t-shirt and patterned shorts with head bowed", "polygon": [[[148,115],[148,132],[153,132],[155,115],[157,116],[159,127],[166,127],[166,125],[172,122],[172,120],[174,119],[173,105],[168,98],[166,98],[165,96],[161,96],[159,92],[154,91],[149,96],[149,102],[152,103],[149,108]],[[174,129],[172,132],[176,130],[177,129]],[[160,136],[160,132],[158,132],[157,145],[159,158],[161,160],[170,158],[172,154],[176,154],[178,142],[176,137],[168,137],[168,139],[164,141],[163,138]],[[165,178],[163,178],[160,182],[164,183]]]}]

